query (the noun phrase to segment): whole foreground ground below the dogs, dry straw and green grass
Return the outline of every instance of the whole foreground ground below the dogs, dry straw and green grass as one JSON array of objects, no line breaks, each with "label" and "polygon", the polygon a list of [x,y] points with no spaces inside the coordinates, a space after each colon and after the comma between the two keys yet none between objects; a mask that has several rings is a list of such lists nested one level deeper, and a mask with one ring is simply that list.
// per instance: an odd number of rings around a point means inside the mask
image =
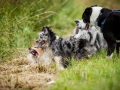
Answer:
[{"label": "whole foreground ground below the dogs, dry straw and green grass", "polygon": [[[25,57],[0,65],[0,89],[22,90],[119,90],[120,60],[106,59],[101,51],[89,59],[72,60],[64,71],[55,66],[28,65]],[[56,83],[47,85],[51,80]]]}]

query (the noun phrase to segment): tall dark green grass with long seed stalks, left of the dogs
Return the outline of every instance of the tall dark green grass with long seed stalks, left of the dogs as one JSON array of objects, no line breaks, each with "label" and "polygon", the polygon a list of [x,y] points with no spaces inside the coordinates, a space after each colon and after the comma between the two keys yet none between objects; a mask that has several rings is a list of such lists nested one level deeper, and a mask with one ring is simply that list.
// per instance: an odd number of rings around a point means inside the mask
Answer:
[{"label": "tall dark green grass with long seed stalks, left of the dogs", "polygon": [[[68,0],[1,0],[0,59],[10,59],[16,49],[28,48],[37,33],[49,25]],[[15,51],[14,51],[15,50]]]}]

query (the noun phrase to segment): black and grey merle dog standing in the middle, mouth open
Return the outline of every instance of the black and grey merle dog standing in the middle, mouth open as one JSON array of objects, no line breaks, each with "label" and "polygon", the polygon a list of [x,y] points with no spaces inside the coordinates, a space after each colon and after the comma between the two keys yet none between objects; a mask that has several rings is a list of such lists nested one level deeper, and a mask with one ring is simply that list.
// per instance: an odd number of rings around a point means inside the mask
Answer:
[{"label": "black and grey merle dog standing in the middle, mouth open", "polygon": [[56,39],[55,33],[47,26],[43,27],[36,42],[37,47],[52,50],[58,69],[63,70],[67,66],[65,59],[71,60],[74,57],[79,60],[87,57],[88,42],[86,39],[77,39],[74,36]]}]

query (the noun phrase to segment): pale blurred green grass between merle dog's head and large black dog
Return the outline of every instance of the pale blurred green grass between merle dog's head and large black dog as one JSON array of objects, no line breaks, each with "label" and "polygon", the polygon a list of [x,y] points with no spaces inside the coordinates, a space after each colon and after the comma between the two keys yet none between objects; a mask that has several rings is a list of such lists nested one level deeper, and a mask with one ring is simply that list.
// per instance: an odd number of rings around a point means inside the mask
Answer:
[{"label": "pale blurred green grass between merle dog's head and large black dog", "polygon": [[74,1],[70,1],[64,5],[64,7],[58,11],[57,16],[53,18],[53,29],[56,29],[56,33],[60,36],[68,34],[69,31],[73,32],[75,27],[75,20],[81,19],[83,12],[83,6],[77,7]]}]

